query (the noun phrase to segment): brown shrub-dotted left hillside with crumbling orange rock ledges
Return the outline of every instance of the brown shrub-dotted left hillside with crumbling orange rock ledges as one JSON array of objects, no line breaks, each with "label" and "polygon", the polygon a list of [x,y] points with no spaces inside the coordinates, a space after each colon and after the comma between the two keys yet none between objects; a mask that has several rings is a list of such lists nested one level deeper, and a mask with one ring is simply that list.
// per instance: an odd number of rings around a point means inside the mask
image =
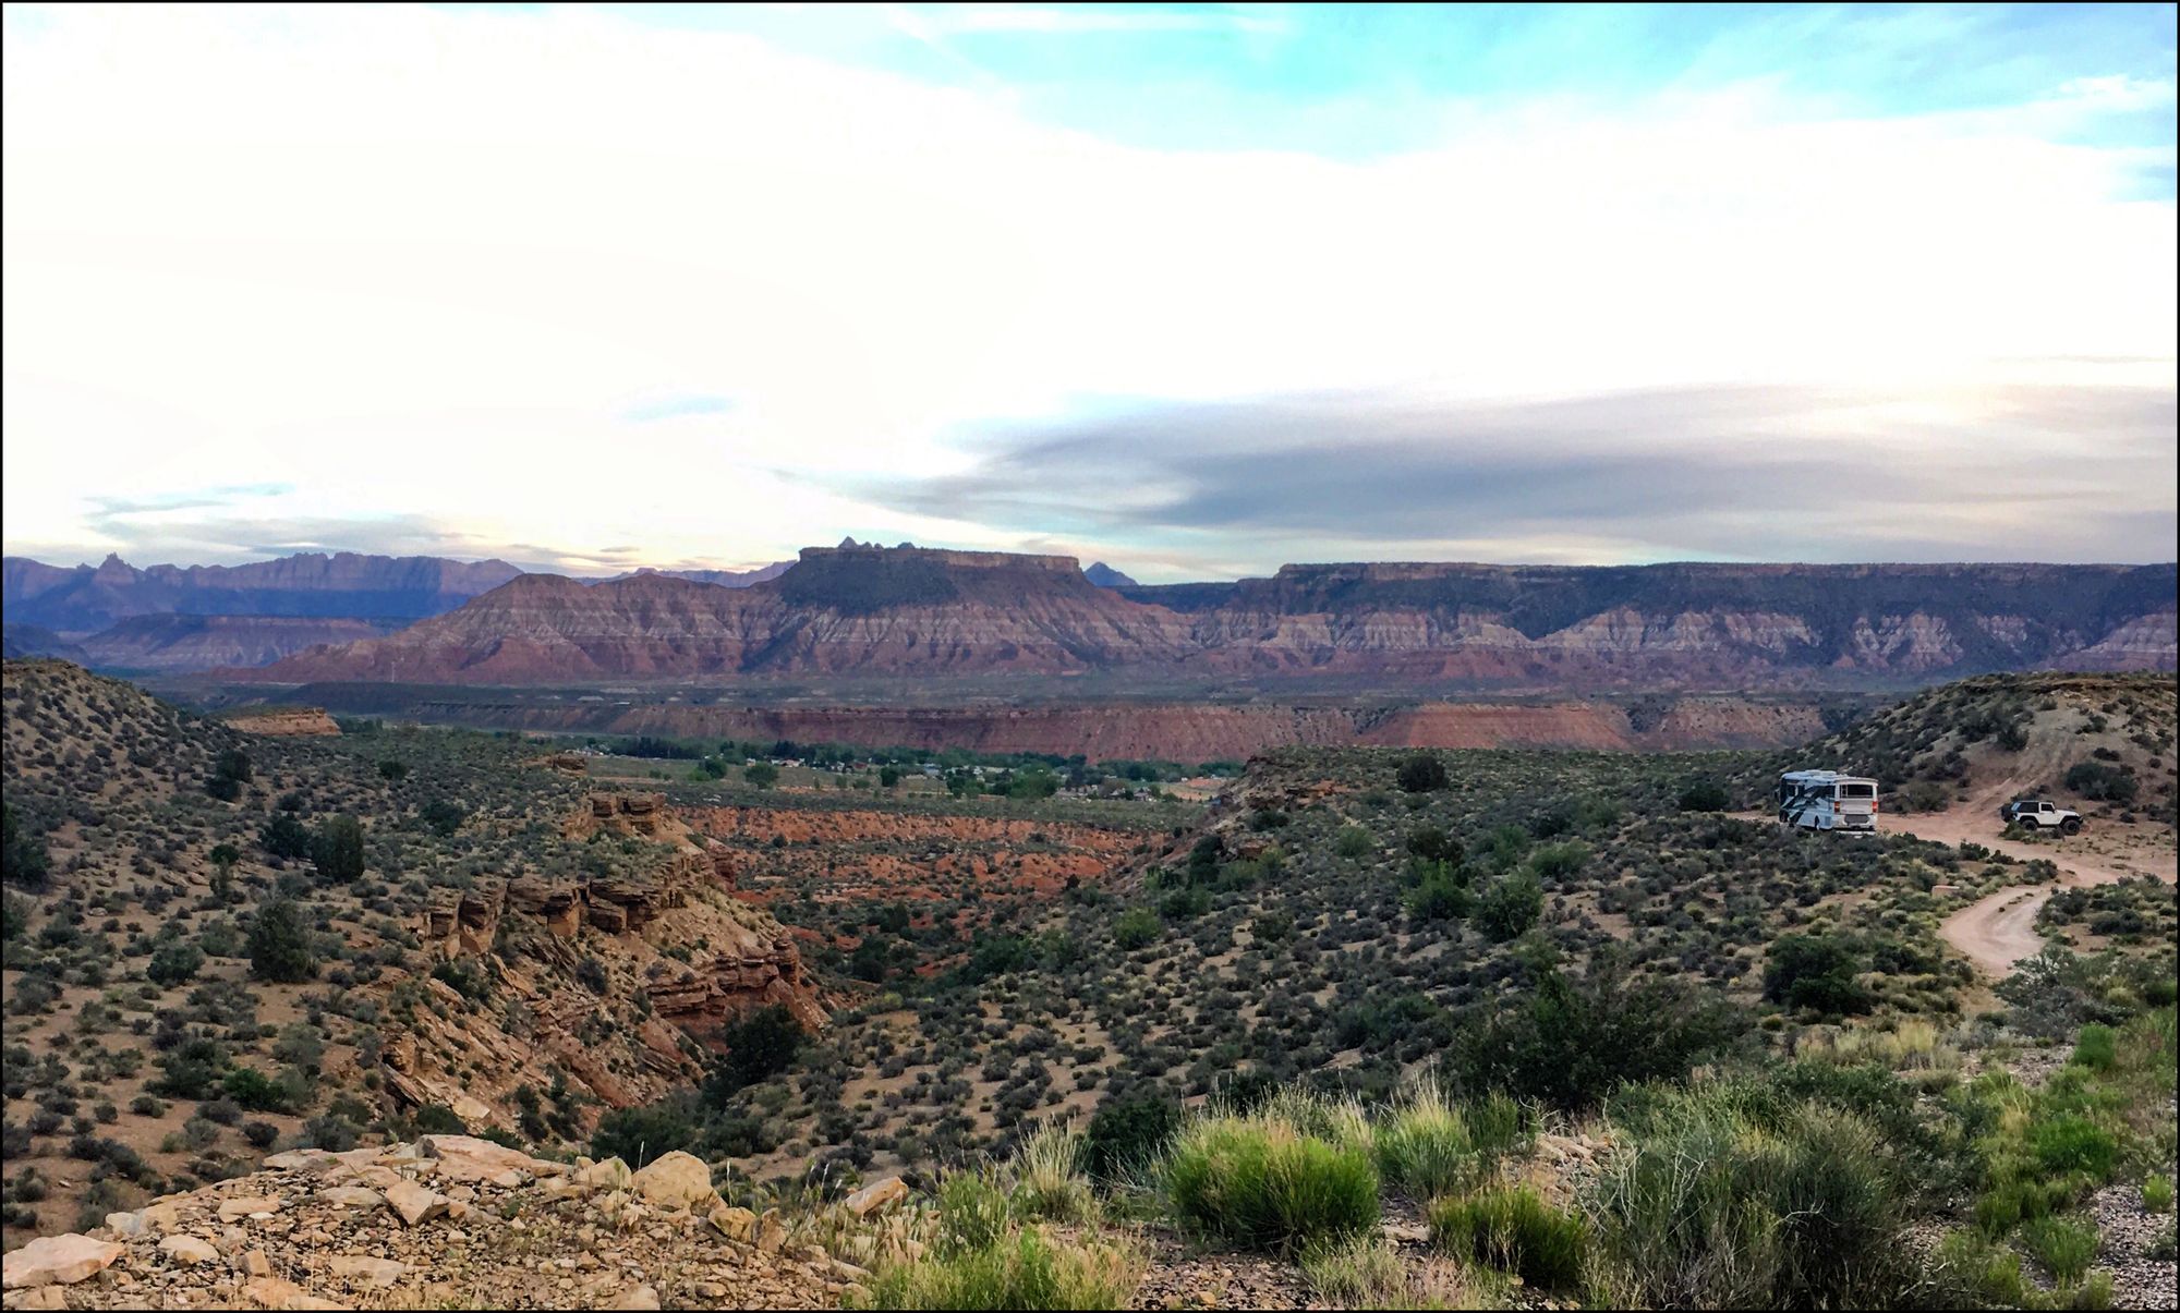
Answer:
[{"label": "brown shrub-dotted left hillside with crumbling orange rock ledges", "polygon": [[277,1139],[580,1139],[700,1075],[741,1012],[824,1023],[794,938],[656,796],[486,735],[255,737],[4,672],[9,1160],[74,1134],[116,1165],[59,1171],[11,1234]]}]

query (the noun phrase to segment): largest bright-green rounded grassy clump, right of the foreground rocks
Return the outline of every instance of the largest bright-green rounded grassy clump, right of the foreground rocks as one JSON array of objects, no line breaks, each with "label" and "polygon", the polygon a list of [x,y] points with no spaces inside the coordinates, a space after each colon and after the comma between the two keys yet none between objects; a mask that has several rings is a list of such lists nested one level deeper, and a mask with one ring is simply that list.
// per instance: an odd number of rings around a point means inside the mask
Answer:
[{"label": "largest bright-green rounded grassy clump, right of the foreground rocks", "polygon": [[1188,1234],[1288,1252],[1378,1226],[1378,1165],[1362,1147],[1299,1134],[1262,1117],[1210,1117],[1182,1130],[1164,1195]]}]

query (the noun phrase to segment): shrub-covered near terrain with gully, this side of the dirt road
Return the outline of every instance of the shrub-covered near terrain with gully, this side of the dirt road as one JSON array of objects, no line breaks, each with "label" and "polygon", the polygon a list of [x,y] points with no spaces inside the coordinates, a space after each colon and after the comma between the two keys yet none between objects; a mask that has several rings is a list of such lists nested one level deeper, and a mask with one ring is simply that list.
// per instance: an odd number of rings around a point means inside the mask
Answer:
[{"label": "shrub-covered near terrain with gully, this side of the dirt road", "polygon": [[[2169,739],[2152,687],[2080,678]],[[2169,886],[2051,899],[2097,955],[1993,999],[1940,927],[2047,870],[1707,809],[1761,752],[1288,746],[1195,809],[4,707],[9,1280],[81,1278],[15,1302],[2169,1304]],[[1777,1245],[1631,1189],[1692,1158]]]}]

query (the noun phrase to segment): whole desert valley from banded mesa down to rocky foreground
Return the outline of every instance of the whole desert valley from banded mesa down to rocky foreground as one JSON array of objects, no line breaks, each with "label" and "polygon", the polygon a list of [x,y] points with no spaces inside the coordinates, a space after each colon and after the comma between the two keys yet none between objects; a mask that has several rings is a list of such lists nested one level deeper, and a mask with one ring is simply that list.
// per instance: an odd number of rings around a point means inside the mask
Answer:
[{"label": "whole desert valley from banded mesa down to rocky foreground", "polygon": [[[68,1306],[944,1302],[998,1208],[1083,1302],[2136,1298],[2173,571],[2064,574],[857,547],[159,696],[11,659],[9,1245],[89,1237]],[[1711,1134],[1751,1176],[1650,1193]],[[1186,1184],[1280,1143],[1356,1193]],[[1792,1189],[1860,1213],[1642,1239]]]}]

